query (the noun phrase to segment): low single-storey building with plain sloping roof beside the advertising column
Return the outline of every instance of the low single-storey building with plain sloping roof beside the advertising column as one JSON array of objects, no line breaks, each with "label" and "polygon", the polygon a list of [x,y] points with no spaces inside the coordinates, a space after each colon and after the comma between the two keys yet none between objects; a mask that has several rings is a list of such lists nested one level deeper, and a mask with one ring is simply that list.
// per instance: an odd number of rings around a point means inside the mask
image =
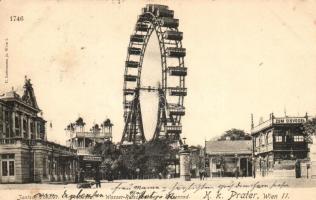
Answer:
[{"label": "low single-storey building with plain sloping roof beside the advertising column", "polygon": [[210,177],[252,176],[251,140],[205,141],[205,165]]}]

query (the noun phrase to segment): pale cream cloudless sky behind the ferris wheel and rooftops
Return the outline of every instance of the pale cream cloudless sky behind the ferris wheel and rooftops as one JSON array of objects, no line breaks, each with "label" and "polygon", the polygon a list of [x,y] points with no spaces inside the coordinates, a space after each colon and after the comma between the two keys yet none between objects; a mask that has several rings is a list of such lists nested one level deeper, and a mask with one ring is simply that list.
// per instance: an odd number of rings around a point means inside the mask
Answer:
[{"label": "pale cream cloudless sky behind the ferris wheel and rooftops", "polygon": [[[167,4],[180,20],[187,50],[182,137],[203,144],[231,128],[250,131],[275,116],[315,115],[315,1],[0,1],[0,91],[33,83],[48,139],[65,144],[64,128],[79,116],[87,123],[110,118],[121,139],[124,63],[137,16],[146,3]],[[10,16],[23,16],[11,22]],[[5,83],[5,39],[9,82]],[[160,79],[152,37],[142,79]],[[156,83],[157,84],[157,83]],[[155,96],[142,106],[155,109]],[[146,109],[145,109],[146,110]],[[144,113],[145,135],[155,112]]]}]

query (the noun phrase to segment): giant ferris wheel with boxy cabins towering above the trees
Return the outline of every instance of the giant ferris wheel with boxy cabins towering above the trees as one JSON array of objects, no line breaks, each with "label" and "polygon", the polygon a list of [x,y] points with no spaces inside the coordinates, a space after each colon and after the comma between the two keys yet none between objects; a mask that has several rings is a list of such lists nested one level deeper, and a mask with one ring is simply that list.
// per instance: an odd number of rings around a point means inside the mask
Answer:
[{"label": "giant ferris wheel with boxy cabins towering above the trees", "polygon": [[[184,97],[187,95],[184,65],[186,49],[183,33],[178,30],[179,19],[168,6],[148,4],[138,16],[125,61],[123,106],[125,126],[121,144],[146,142],[143,128],[140,92],[157,92],[159,96],[157,122],[153,138],[179,141],[182,133],[181,117],[185,115]],[[144,86],[141,82],[143,60],[149,39],[156,33],[161,59],[161,83]],[[146,67],[146,66],[144,66]],[[154,105],[155,106],[155,105]]]}]

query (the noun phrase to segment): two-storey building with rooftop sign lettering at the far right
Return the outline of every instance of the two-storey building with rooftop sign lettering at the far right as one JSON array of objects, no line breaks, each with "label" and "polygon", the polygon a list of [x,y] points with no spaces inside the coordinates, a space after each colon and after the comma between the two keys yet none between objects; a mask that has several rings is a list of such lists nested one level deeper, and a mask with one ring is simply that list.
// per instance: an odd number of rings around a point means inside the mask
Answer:
[{"label": "two-storey building with rooftop sign lettering at the far right", "polygon": [[307,158],[308,144],[303,136],[303,117],[275,117],[254,126],[252,123],[253,154],[257,176],[295,177],[297,160]]}]

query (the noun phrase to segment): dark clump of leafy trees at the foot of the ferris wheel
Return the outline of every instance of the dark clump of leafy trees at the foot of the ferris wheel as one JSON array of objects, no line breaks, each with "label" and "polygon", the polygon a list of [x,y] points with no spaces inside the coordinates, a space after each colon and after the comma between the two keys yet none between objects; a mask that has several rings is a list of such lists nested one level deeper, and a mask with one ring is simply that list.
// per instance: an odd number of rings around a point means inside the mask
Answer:
[{"label": "dark clump of leafy trees at the foot of the ferris wheel", "polygon": [[96,144],[92,153],[102,156],[101,169],[105,172],[121,178],[136,178],[166,174],[168,166],[177,159],[178,149],[165,140],[126,145],[119,149],[111,141],[105,141]]}]

